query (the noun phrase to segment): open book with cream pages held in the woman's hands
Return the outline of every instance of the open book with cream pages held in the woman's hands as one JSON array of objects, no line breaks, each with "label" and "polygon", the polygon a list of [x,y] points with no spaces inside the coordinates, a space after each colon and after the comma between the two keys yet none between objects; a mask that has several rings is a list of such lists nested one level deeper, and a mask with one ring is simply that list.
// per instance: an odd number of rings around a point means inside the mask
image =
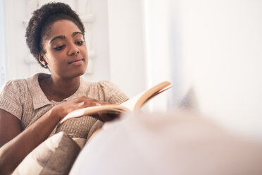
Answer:
[{"label": "open book with cream pages held in the woman's hands", "polygon": [[171,87],[171,83],[168,81],[163,81],[154,87],[151,87],[149,90],[136,95],[123,102],[122,104],[106,104],[102,106],[96,107],[86,107],[82,109],[77,109],[75,111],[70,112],[66,115],[60,123],[67,121],[68,119],[85,116],[85,115],[94,115],[97,113],[107,113],[107,114],[120,114],[126,113],[130,111],[137,111],[141,109],[141,107],[146,104],[150,99],[160,94],[161,92],[168,90]]}]

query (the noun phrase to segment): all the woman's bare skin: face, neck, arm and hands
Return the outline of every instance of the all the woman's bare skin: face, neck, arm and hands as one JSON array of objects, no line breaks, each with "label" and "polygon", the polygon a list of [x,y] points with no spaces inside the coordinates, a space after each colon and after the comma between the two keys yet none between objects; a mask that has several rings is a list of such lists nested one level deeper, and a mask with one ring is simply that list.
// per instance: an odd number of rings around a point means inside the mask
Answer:
[{"label": "all the woman's bare skin: face, neck, arm and hands", "polygon": [[[51,77],[39,80],[39,85],[49,100],[59,102],[73,95],[79,87],[80,76],[87,68],[87,47],[80,29],[70,20],[56,21],[46,36],[46,54],[39,56],[39,61],[47,64]],[[89,97],[63,102],[23,132],[19,119],[0,109],[0,174],[11,174],[27,154],[49,137],[66,114],[75,109],[103,104],[108,103]],[[101,121],[112,119],[103,115],[93,117]]]}]

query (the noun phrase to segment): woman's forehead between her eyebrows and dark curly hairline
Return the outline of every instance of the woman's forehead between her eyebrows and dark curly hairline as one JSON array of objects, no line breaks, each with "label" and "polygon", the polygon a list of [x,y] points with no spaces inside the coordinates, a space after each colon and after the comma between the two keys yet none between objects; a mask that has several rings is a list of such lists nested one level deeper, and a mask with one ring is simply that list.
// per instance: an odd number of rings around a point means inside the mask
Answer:
[{"label": "woman's forehead between her eyebrows and dark curly hairline", "polygon": [[49,28],[49,35],[46,38],[51,40],[53,37],[59,35],[72,35],[73,32],[81,32],[81,30],[71,20],[58,20],[54,22]]}]

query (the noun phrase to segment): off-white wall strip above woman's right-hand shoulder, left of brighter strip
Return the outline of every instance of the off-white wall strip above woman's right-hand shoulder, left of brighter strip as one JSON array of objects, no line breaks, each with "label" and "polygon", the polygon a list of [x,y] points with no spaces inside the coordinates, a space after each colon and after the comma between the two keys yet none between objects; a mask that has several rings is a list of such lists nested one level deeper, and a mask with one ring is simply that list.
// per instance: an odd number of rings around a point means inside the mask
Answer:
[{"label": "off-white wall strip above woman's right-hand shoulder, left of brighter strip", "polygon": [[146,86],[142,11],[141,0],[108,0],[111,81],[129,97]]}]

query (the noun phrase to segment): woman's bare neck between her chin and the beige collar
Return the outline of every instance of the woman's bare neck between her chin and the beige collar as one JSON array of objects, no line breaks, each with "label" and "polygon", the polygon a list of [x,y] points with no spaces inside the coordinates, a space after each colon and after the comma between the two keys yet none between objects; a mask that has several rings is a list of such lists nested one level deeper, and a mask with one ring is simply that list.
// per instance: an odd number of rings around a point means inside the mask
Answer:
[{"label": "woman's bare neck between her chin and the beige collar", "polygon": [[51,76],[40,81],[39,84],[49,100],[59,102],[77,91],[80,85],[80,77],[61,79]]}]

